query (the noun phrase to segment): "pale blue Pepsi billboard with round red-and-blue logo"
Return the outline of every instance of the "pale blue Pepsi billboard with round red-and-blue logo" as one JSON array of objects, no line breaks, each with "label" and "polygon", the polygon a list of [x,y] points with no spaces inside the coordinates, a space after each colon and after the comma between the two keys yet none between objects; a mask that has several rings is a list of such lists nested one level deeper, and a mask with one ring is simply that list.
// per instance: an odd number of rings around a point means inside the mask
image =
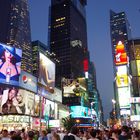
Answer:
[{"label": "pale blue Pepsi billboard with round red-and-blue logo", "polygon": [[37,93],[37,78],[25,71],[21,71],[19,86]]}]

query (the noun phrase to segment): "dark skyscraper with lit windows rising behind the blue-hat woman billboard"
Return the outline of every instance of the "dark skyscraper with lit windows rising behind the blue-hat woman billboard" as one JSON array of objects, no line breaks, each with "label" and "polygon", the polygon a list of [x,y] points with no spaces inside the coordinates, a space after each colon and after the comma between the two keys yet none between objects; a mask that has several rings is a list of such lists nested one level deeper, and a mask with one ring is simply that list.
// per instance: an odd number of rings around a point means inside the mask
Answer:
[{"label": "dark skyscraper with lit windows rising behind the blue-hat woman billboard", "polygon": [[32,49],[27,0],[0,1],[0,42],[21,48],[22,70],[32,72]]}]

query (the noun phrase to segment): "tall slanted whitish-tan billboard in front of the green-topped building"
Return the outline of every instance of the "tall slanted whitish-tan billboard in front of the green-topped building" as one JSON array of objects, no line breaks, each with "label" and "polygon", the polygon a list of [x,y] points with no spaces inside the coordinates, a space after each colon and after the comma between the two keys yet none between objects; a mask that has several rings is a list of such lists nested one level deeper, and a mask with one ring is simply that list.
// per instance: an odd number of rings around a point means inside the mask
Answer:
[{"label": "tall slanted whitish-tan billboard in front of the green-topped building", "polygon": [[47,56],[39,53],[39,83],[53,92],[55,86],[55,64]]}]

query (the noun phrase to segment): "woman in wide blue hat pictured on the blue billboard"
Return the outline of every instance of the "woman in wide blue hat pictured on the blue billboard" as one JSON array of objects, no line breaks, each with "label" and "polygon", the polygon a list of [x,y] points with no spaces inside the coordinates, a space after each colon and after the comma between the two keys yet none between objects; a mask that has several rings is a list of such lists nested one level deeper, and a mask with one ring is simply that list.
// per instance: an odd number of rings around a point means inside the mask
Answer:
[{"label": "woman in wide blue hat pictured on the blue billboard", "polygon": [[6,79],[6,82],[10,80],[18,81],[20,75],[20,66],[17,65],[18,62],[21,62],[21,57],[16,54],[14,47],[0,45],[0,77]]}]

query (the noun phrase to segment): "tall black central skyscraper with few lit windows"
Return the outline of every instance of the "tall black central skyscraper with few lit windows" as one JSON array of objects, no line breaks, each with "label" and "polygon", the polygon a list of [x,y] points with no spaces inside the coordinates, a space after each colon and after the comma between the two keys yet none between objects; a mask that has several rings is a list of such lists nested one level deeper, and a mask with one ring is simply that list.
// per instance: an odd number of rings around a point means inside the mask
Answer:
[{"label": "tall black central skyscraper with few lit windows", "polygon": [[49,44],[60,63],[56,68],[57,86],[61,78],[84,75],[87,54],[86,0],[52,0],[50,7]]}]

